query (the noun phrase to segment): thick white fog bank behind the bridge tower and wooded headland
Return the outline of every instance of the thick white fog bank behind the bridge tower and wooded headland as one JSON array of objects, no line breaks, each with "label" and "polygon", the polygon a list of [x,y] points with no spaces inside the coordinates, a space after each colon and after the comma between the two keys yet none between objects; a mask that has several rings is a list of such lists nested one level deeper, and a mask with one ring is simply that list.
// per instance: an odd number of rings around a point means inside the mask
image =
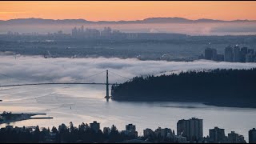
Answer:
[{"label": "thick white fog bank behind the bridge tower and wooded headland", "polygon": [[[0,55],[0,85],[29,82],[125,82],[126,78],[148,74],[171,74],[186,70],[250,69],[256,63],[140,61],[136,58],[42,58]],[[102,72],[101,74],[98,74]],[[120,74],[119,77],[115,74]],[[90,77],[90,75],[98,74]]]}]

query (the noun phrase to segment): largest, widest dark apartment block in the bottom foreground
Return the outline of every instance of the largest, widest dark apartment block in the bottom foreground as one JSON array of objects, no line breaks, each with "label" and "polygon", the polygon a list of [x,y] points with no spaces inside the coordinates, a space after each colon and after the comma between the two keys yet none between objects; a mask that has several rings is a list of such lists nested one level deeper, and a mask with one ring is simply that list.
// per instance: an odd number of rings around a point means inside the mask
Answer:
[{"label": "largest, widest dark apartment block in the bottom foreground", "polygon": [[177,122],[177,135],[186,137],[188,141],[202,140],[202,119],[179,120]]}]

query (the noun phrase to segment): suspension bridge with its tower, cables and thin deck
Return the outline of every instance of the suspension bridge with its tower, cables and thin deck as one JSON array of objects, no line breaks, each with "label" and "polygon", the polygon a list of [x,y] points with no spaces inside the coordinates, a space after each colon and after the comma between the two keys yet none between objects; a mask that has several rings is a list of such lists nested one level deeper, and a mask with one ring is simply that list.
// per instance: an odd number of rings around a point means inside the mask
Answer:
[{"label": "suspension bridge with its tower, cables and thin deck", "polygon": [[[106,83],[105,82],[41,82],[41,83],[23,83],[23,84],[12,84],[12,85],[0,85],[0,87],[11,87],[11,86],[38,86],[38,85],[106,85],[106,96],[105,98],[108,100],[110,98],[110,94],[109,94],[109,86],[110,85],[119,85],[118,83],[109,83],[109,70],[104,70],[98,74],[102,74],[103,72],[106,72]],[[110,72],[111,74],[115,74],[114,72]],[[98,74],[93,74],[90,75],[86,78],[91,78],[93,76],[96,76]],[[13,78],[10,77],[6,74],[1,74],[3,76],[9,77],[9,78]],[[126,78],[123,77],[122,75],[119,74],[115,74],[118,75],[119,77],[122,78]],[[19,79],[19,78],[17,78]],[[130,80],[130,78],[126,78],[128,80]],[[0,100],[1,101],[1,100]]]}]

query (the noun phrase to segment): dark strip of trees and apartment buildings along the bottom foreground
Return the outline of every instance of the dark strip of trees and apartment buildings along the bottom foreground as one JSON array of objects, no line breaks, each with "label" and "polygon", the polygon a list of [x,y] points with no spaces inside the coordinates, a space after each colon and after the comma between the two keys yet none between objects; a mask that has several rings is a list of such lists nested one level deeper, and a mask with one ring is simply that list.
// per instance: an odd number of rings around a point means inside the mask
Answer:
[{"label": "dark strip of trees and apartment buildings along the bottom foreground", "polygon": [[[11,118],[13,114],[2,113],[1,118],[7,119]],[[75,142],[76,138],[80,136],[81,142],[176,142],[176,143],[246,143],[244,136],[238,134],[234,130],[230,133],[225,133],[225,129],[214,126],[214,129],[209,129],[206,135],[203,135],[203,119],[200,118],[190,118],[190,119],[180,119],[177,122],[176,133],[173,127],[169,126],[158,126],[157,129],[152,130],[150,128],[145,128],[142,134],[138,134],[136,130],[136,125],[129,123],[125,125],[125,130],[123,128],[120,130],[117,126],[112,124],[111,127],[103,126],[101,128],[101,123],[93,121],[92,123],[82,122],[81,125],[74,126],[73,122],[69,122],[69,126],[62,123],[59,126],[53,126],[51,129],[48,126],[5,126],[0,129],[0,134],[5,135],[8,139],[10,138],[9,131],[15,131],[12,133],[12,138],[16,142],[17,136],[20,133],[26,132],[26,134],[31,134],[29,138],[23,138],[22,142]],[[57,129],[58,128],[58,129]],[[248,131],[249,143],[256,142],[256,130],[252,128]],[[40,134],[42,133],[42,134]],[[43,134],[44,133],[44,134]],[[65,134],[66,133],[66,134]],[[82,135],[83,133],[83,135]],[[66,136],[63,137],[63,134]],[[86,134],[90,134],[90,138],[86,138]],[[38,138],[37,135],[42,135]],[[105,137],[103,136],[105,135]],[[82,136],[82,137],[81,137]],[[94,137],[96,136],[96,137]],[[103,136],[103,137],[102,137]],[[113,138],[114,136],[114,138]],[[120,137],[121,136],[121,137]],[[35,139],[33,139],[33,137]],[[111,138],[112,137],[112,138]],[[5,139],[5,140],[6,140]],[[104,140],[103,140],[104,139]],[[7,140],[8,141],[8,140]],[[10,140],[9,140],[10,141]],[[2,138],[0,140],[2,142]]]}]

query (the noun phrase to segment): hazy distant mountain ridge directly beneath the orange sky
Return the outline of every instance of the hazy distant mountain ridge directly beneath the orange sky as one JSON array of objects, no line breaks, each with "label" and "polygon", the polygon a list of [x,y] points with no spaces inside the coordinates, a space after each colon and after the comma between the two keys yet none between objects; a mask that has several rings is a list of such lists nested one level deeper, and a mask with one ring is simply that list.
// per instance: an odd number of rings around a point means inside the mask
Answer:
[{"label": "hazy distant mountain ridge directly beneath the orange sky", "polygon": [[256,20],[233,20],[223,21],[216,19],[201,18],[197,20],[190,20],[186,18],[146,18],[136,21],[87,21],[85,19],[43,19],[43,18],[17,18],[6,21],[0,20],[0,24],[8,25],[20,25],[20,24],[73,24],[73,23],[85,23],[85,24],[130,24],[130,23],[195,23],[195,22],[256,22]]}]

